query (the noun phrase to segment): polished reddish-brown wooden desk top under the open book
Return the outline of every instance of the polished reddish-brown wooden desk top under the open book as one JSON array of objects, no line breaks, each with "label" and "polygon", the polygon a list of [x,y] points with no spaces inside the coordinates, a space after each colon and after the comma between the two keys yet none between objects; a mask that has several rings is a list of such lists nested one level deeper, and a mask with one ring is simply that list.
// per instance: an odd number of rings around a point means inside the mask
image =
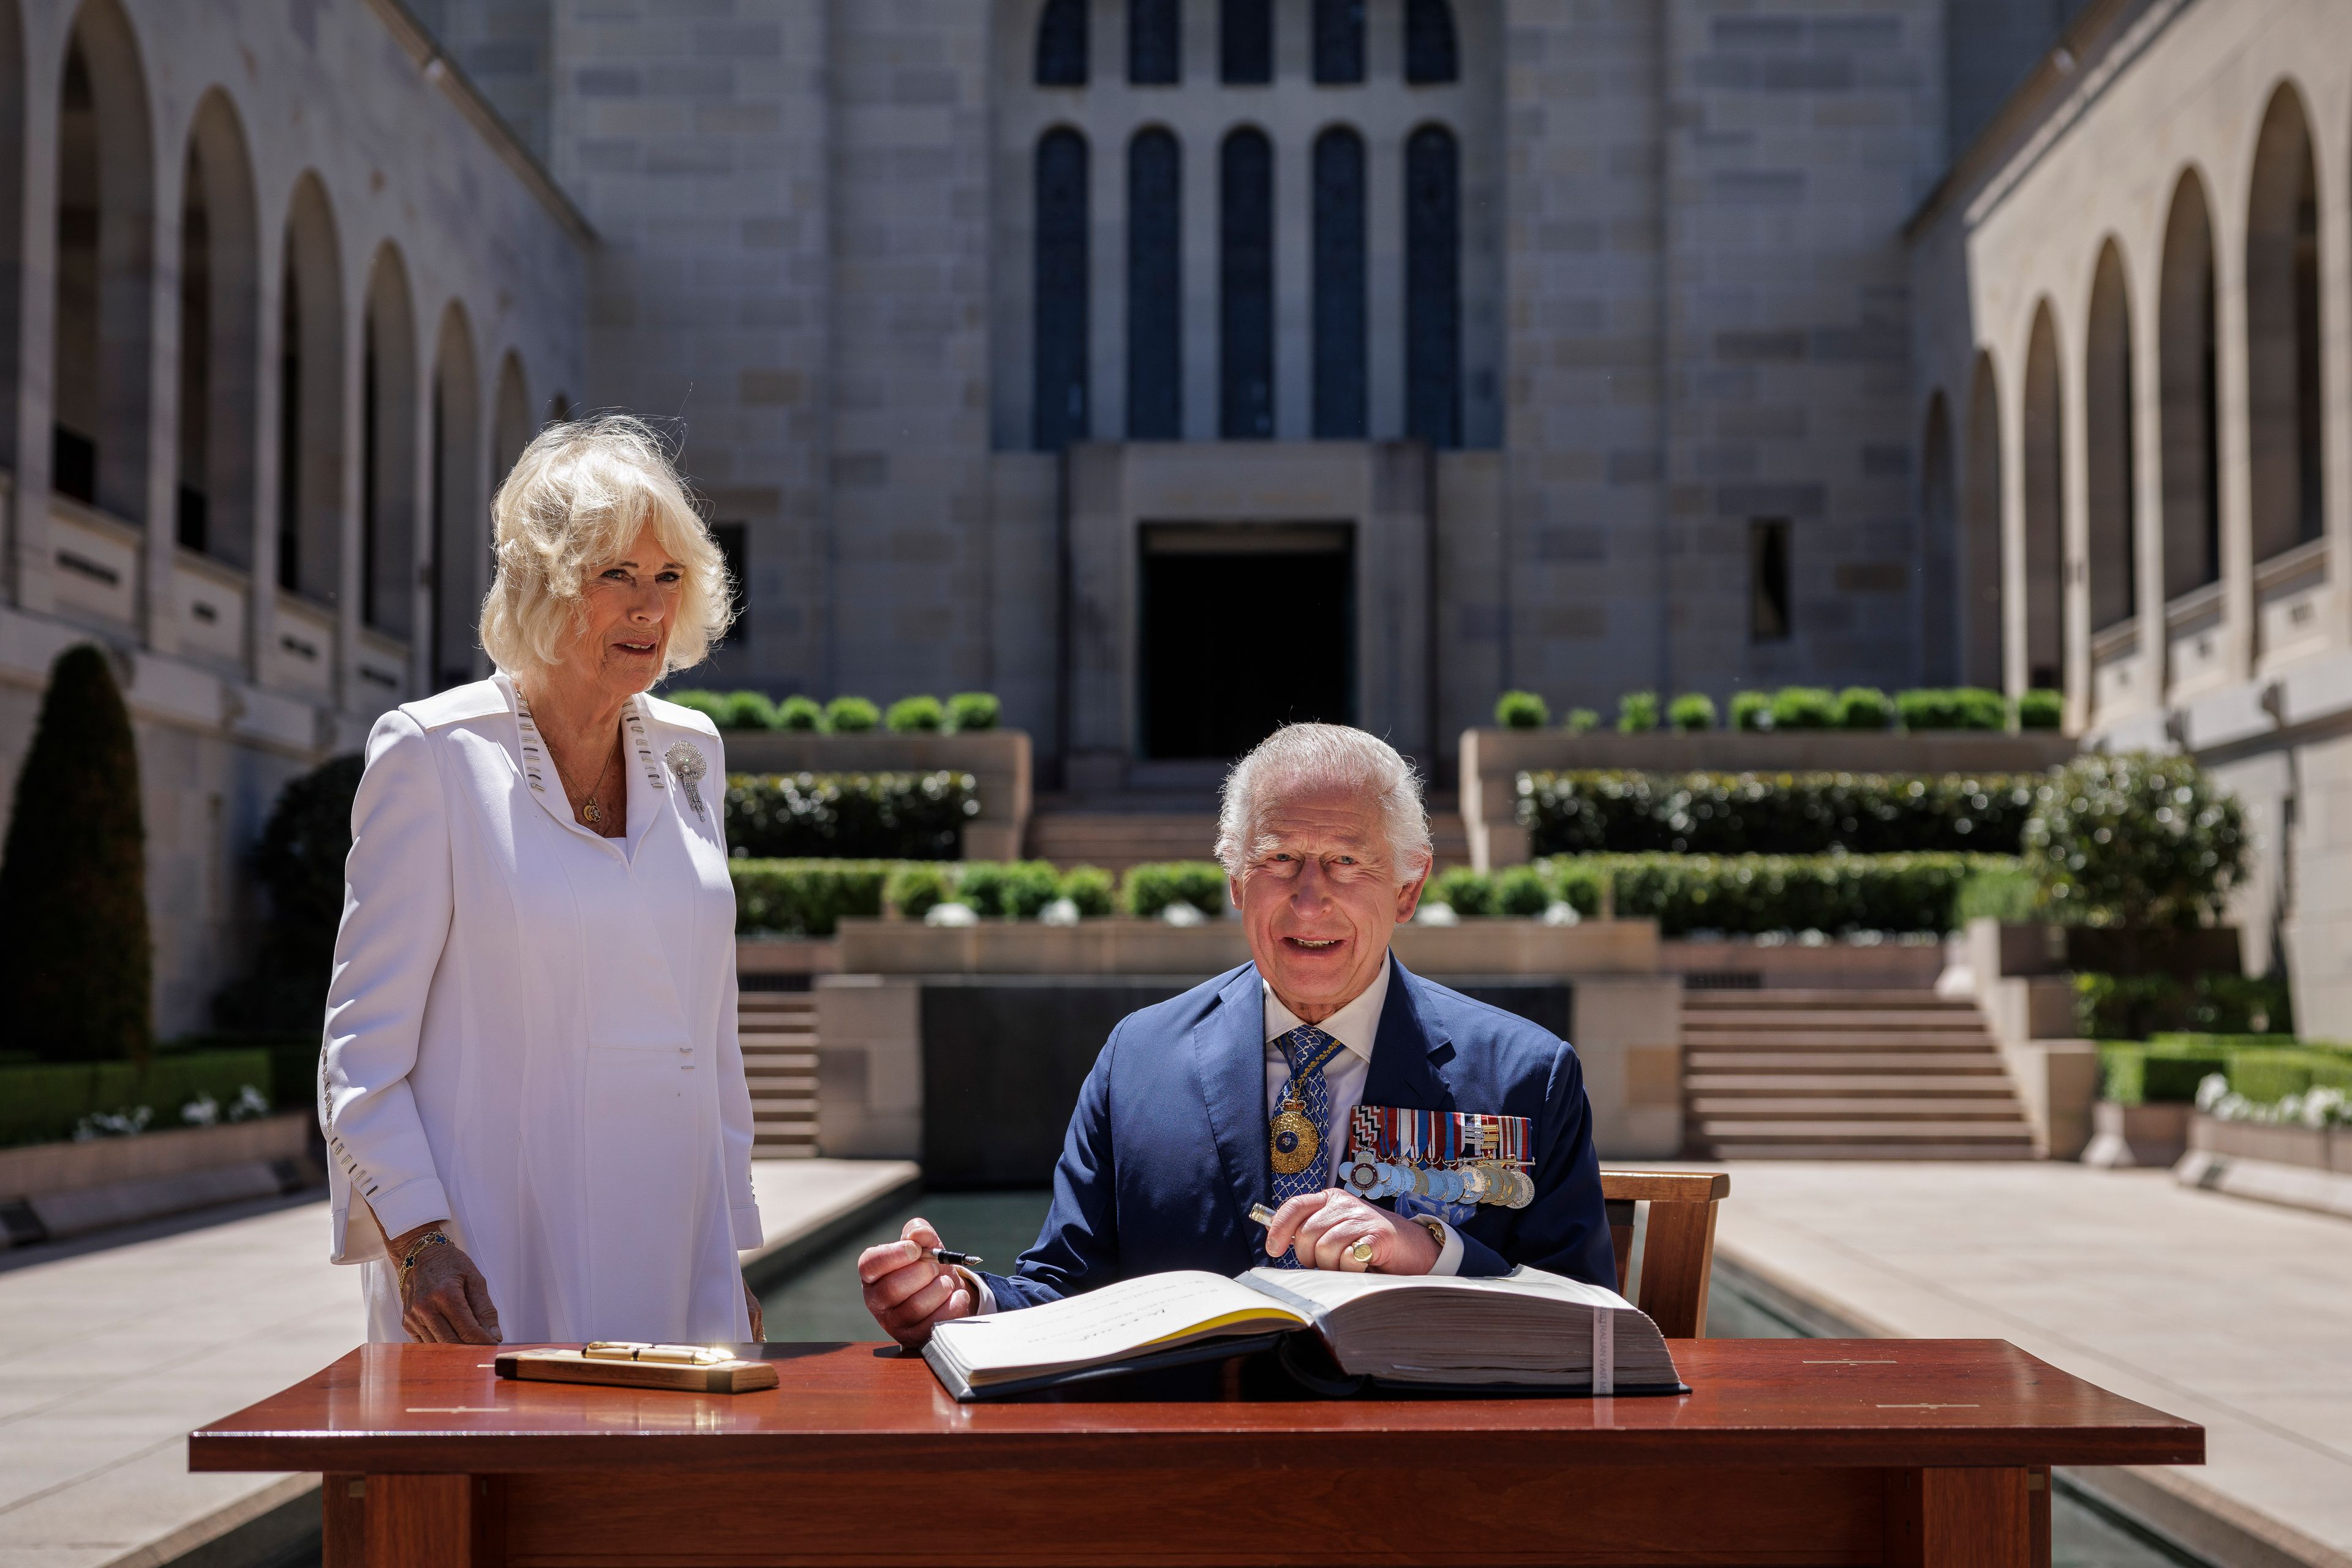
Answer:
[{"label": "polished reddish-brown wooden desk top under the open book", "polygon": [[764,1345],[781,1387],[677,1394],[501,1382],[480,1345],[365,1345],[198,1429],[193,1469],[539,1472],[988,1462],[1075,1441],[1298,1453],[1296,1436],[1569,1465],[2199,1465],[2204,1429],[2006,1340],[1675,1340],[1689,1394],[1644,1399],[1117,1399],[960,1406],[887,1345]]}]

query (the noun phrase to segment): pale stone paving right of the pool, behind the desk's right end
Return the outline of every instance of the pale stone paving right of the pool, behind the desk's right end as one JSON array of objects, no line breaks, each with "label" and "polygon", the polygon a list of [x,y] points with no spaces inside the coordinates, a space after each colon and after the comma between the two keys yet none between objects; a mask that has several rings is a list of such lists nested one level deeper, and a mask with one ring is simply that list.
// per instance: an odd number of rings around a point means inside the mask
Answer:
[{"label": "pale stone paving right of the pool, behind the desk's right end", "polygon": [[1736,1161],[1740,1274],[1865,1333],[2002,1338],[2206,1427],[2084,1483],[2218,1561],[2352,1568],[2352,1222],[2074,1164]]}]

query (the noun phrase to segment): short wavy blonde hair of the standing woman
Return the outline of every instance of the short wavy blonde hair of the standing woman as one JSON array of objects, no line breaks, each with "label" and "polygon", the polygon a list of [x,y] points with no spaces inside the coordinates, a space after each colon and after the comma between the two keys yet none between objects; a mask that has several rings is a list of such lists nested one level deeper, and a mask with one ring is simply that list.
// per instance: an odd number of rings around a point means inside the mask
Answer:
[{"label": "short wavy blonde hair of the standing woman", "polygon": [[489,503],[499,569],[482,599],[482,649],[508,675],[560,663],[588,574],[619,559],[652,524],[684,567],[663,675],[703,661],[734,618],[727,557],[670,463],[670,449],[628,414],[557,421],[522,449]]}]

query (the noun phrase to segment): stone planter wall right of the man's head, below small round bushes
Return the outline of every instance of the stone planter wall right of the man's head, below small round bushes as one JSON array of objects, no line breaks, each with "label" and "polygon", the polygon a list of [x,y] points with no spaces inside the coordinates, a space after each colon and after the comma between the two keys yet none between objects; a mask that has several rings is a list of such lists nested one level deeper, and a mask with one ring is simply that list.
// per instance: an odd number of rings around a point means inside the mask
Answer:
[{"label": "stone planter wall right of the man's head, below small round bushes", "polygon": [[1644,773],[1828,771],[1828,773],[2032,773],[2082,750],[2056,731],[1837,731],[1748,733],[1649,731],[1621,736],[1564,729],[1465,729],[1461,741],[1461,811],[1470,863],[1494,870],[1524,865],[1529,835],[1517,820],[1517,783],[1543,769],[1639,769]]}]

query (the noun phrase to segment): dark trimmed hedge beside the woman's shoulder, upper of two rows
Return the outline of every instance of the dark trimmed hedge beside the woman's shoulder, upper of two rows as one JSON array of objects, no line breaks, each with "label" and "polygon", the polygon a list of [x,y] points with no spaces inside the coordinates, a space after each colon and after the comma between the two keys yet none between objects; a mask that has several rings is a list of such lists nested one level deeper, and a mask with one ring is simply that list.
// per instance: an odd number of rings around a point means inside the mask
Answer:
[{"label": "dark trimmed hedge beside the woman's shoulder, upper of two rows", "polygon": [[753,860],[953,860],[971,773],[729,773],[727,844]]}]

